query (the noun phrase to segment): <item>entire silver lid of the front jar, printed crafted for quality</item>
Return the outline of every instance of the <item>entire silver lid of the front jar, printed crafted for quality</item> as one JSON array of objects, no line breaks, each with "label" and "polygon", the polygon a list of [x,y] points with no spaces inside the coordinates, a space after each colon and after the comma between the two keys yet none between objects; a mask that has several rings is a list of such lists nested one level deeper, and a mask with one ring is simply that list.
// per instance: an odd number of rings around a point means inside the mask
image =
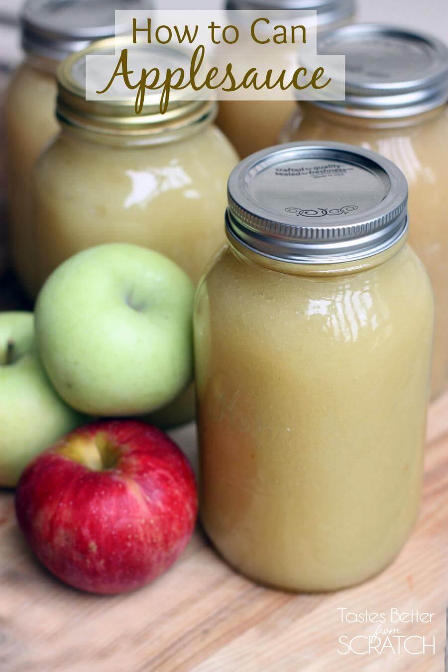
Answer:
[{"label": "entire silver lid of the front jar, printed crafted for quality", "polygon": [[278,261],[355,261],[406,234],[407,200],[402,171],[376,152],[341,142],[279,144],[230,174],[226,228]]}]

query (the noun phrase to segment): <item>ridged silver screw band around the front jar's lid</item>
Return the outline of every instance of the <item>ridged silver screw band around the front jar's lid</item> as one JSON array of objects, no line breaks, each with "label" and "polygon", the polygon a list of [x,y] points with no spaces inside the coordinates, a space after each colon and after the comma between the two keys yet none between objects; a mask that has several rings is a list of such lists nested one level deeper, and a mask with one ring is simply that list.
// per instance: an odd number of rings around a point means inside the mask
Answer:
[{"label": "ridged silver screw band around the front jar's lid", "polygon": [[[334,226],[316,226],[303,216],[294,214],[297,223],[287,215],[273,218],[272,212],[251,196],[247,175],[257,166],[279,165],[288,157],[296,160],[328,157],[344,160],[347,165],[369,169],[376,165],[390,180],[385,198],[366,212],[353,206],[341,207],[338,216],[343,222]],[[263,161],[272,161],[263,164]],[[381,155],[340,142],[290,142],[257,152],[244,159],[228,180],[228,210],[226,228],[240,244],[253,251],[292,263],[341,263],[364,259],[392,247],[408,228],[408,187],[402,171]],[[296,208],[293,208],[296,210]],[[328,214],[333,214],[328,211]]]}]

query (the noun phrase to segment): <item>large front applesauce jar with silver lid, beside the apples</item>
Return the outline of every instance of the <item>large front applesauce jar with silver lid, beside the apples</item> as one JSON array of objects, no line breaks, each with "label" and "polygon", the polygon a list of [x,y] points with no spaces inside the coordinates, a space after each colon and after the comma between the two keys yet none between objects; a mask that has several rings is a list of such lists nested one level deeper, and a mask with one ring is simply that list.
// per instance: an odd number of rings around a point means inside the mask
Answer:
[{"label": "large front applesauce jar with silver lid, beside the apples", "polygon": [[230,175],[228,245],[195,300],[201,516],[255,581],[354,585],[416,520],[433,298],[406,199],[392,162],[342,143]]}]

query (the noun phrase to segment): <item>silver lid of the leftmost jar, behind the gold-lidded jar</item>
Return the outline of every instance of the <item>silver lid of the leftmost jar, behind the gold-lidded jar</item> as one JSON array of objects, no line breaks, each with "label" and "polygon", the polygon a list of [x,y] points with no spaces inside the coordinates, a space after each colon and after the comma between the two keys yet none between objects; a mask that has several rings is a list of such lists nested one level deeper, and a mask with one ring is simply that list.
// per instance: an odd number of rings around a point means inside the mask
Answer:
[{"label": "silver lid of the leftmost jar, behind the gold-lidded jar", "polygon": [[[62,60],[93,40],[116,34],[116,9],[151,9],[148,0],[28,0],[21,13],[22,46],[29,54]],[[117,26],[117,34],[125,28]]]}]

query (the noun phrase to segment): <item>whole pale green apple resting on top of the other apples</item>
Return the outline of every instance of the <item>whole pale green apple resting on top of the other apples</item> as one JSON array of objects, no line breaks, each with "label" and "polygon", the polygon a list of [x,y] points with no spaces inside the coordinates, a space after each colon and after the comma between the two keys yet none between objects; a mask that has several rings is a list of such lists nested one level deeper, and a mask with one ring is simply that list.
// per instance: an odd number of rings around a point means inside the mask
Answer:
[{"label": "whole pale green apple resting on top of the other apples", "polygon": [[35,311],[52,384],[89,415],[144,415],[169,404],[193,377],[193,283],[171,259],[109,243],[64,261]]}]

